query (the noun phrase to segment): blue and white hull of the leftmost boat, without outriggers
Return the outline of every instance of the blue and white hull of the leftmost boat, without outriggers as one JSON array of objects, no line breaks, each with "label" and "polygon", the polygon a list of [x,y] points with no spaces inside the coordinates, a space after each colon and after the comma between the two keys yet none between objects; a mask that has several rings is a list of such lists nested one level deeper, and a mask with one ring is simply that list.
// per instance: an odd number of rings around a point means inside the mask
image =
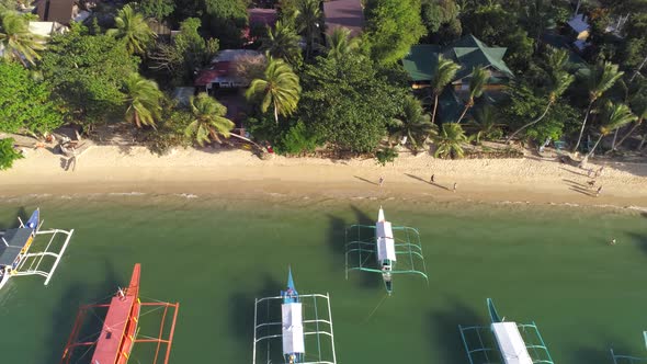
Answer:
[{"label": "blue and white hull of the leftmost boat, without outriggers", "polygon": [[0,288],[14,275],[38,230],[41,211],[36,208],[26,224],[9,229],[0,237]]}]

